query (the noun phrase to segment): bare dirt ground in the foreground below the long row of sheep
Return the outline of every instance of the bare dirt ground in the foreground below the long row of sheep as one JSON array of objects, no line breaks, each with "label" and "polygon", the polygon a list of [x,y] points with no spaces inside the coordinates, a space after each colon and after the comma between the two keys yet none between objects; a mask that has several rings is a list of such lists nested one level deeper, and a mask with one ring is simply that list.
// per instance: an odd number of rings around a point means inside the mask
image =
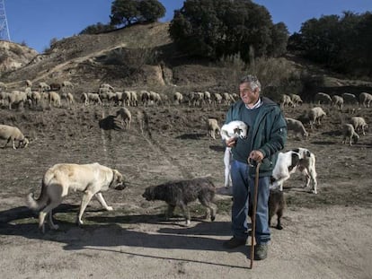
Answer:
[{"label": "bare dirt ground in the foreground below the long row of sheep", "polygon": [[[1,123],[19,126],[31,138],[25,149],[0,149],[1,278],[372,277],[372,135],[350,147],[341,144],[340,132],[353,115],[370,123],[372,109],[351,114],[325,107],[328,118],[308,141],[289,135],[286,150],[301,146],[316,155],[318,194],[302,187],[300,175],[288,180],[284,229],[271,229],[269,257],[255,261],[252,270],[249,244],[222,248],[231,236],[231,196],[223,187],[223,148],[206,135],[205,122],[214,117],[222,123],[227,107],[130,108],[135,117],[129,131],[100,128],[100,120],[117,109],[0,109]],[[285,115],[299,118],[306,109],[285,109]],[[143,132],[137,111],[146,116]],[[78,227],[80,194],[71,193],[54,214],[59,230],[38,231],[25,196],[39,196],[41,178],[53,164],[94,161],[120,170],[128,181],[123,191],[103,193],[115,210],[102,211],[93,200]],[[219,193],[215,222],[201,219],[198,203],[190,205],[189,227],[179,212],[165,221],[164,203],[141,196],[150,185],[207,175]]]}]

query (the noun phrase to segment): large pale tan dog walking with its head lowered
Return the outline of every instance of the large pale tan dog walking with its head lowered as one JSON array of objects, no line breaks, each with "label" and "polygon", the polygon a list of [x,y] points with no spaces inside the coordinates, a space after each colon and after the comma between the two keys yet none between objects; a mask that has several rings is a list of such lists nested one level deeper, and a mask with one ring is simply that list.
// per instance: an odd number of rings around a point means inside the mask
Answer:
[{"label": "large pale tan dog walking with its head lowered", "polygon": [[77,224],[83,224],[82,216],[84,210],[93,196],[96,196],[102,207],[111,211],[103,199],[103,191],[109,188],[118,190],[126,186],[123,177],[118,170],[112,170],[95,162],[92,164],[68,164],[61,163],[51,167],[44,174],[41,184],[41,194],[37,200],[30,193],[27,196],[27,204],[33,210],[40,210],[39,228],[44,232],[44,220],[49,214],[49,226],[57,230],[58,225],[52,221],[52,210],[61,204],[62,199],[67,196],[69,190],[84,192],[80,211],[77,215]]}]

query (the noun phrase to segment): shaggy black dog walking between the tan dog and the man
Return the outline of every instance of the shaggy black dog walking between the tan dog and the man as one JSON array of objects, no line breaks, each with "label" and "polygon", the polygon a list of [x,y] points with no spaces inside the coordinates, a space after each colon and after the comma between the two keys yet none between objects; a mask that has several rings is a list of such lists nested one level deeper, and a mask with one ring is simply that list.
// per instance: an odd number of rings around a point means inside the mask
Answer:
[{"label": "shaggy black dog walking between the tan dog and the man", "polygon": [[206,218],[216,218],[217,205],[213,203],[216,194],[216,187],[208,178],[187,179],[180,181],[166,182],[157,186],[146,187],[142,195],[147,201],[162,200],[168,205],[167,217],[173,215],[175,206],[182,209],[186,218],[186,225],[190,224],[190,212],[188,204],[199,199],[201,205],[206,206]]}]

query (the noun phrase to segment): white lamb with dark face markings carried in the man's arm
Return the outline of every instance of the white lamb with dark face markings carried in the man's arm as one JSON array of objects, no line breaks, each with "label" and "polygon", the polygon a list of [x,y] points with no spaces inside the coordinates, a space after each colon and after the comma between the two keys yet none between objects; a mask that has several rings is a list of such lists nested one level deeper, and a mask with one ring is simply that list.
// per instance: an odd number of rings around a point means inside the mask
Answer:
[{"label": "white lamb with dark face markings carried in the man's arm", "polygon": [[[221,137],[224,141],[235,137],[235,138],[245,138],[248,133],[248,126],[239,120],[231,121],[221,127]],[[226,147],[224,154],[224,164],[225,164],[225,187],[230,187],[231,182],[231,148]]]}]

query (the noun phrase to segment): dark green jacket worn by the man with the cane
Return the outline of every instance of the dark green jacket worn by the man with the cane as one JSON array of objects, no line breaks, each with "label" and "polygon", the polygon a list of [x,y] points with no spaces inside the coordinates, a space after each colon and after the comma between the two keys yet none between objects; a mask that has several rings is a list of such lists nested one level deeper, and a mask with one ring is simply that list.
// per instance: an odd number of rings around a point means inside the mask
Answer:
[{"label": "dark green jacket worn by the man with the cane", "polygon": [[[260,166],[260,177],[271,176],[275,163],[278,160],[278,153],[284,148],[287,142],[287,123],[279,106],[272,100],[261,97],[262,105],[254,120],[254,124],[249,127],[252,133],[252,141],[249,150],[260,150],[264,159]],[[242,100],[238,100],[227,111],[226,123],[233,120],[242,120],[241,111],[245,108]],[[238,139],[236,144],[243,144],[244,141]],[[234,156],[235,148],[231,149]],[[248,159],[248,158],[247,158]],[[239,160],[241,161],[241,160]],[[247,160],[243,161],[248,163]],[[255,168],[250,168],[250,175],[254,176]]]}]

